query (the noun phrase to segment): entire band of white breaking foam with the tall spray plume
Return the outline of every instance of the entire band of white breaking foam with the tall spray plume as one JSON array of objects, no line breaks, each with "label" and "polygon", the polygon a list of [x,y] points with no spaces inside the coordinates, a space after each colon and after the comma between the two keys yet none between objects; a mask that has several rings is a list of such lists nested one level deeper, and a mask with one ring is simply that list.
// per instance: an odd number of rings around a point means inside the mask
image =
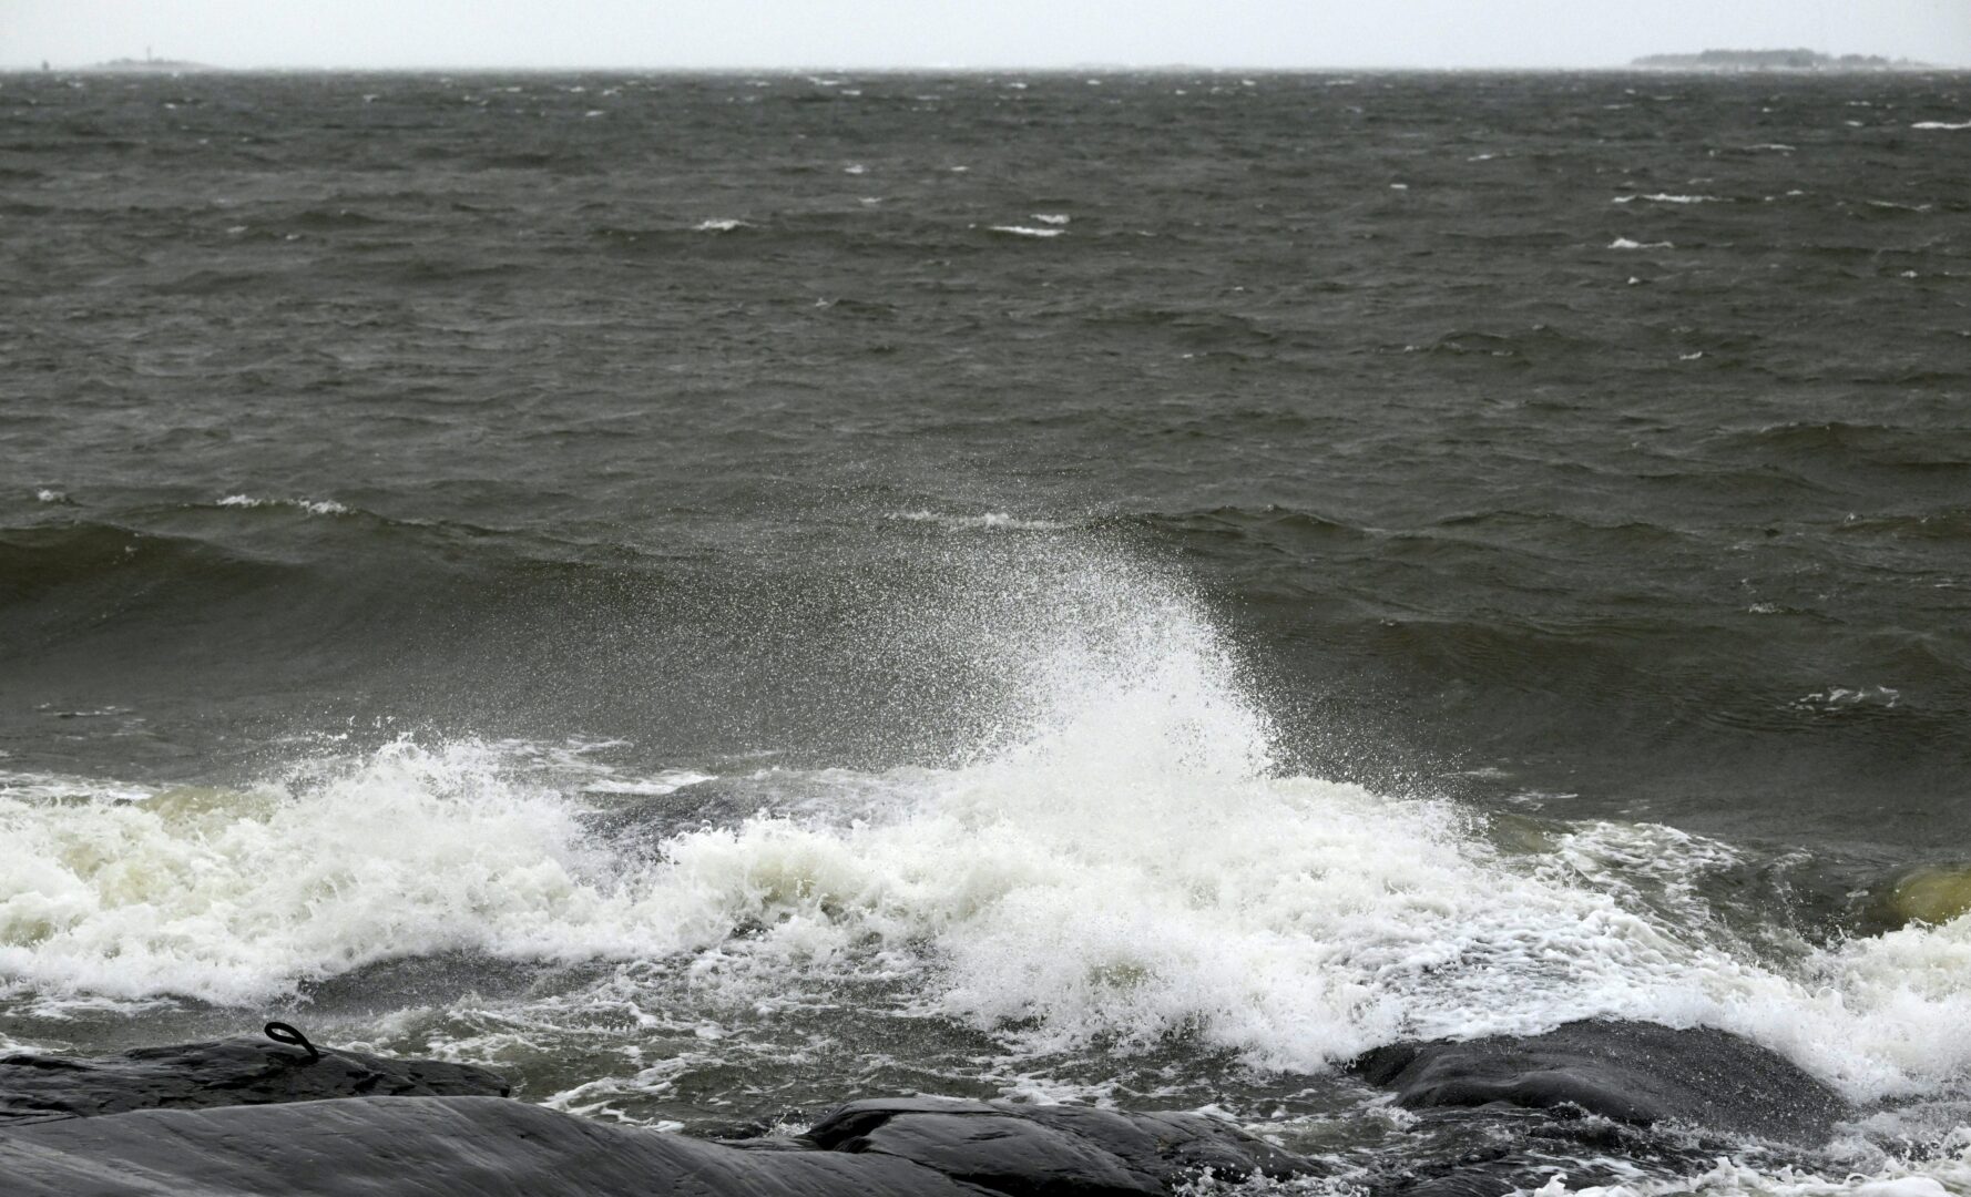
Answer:
[{"label": "entire band of white breaking foam with the tall spray plume", "polygon": [[503,745],[138,801],[0,787],[0,992],[254,1004],[471,951],[757,1002],[873,972],[1039,1049],[1183,1033],[1299,1071],[1600,1014],[1734,1029],[1851,1096],[1971,1069],[1971,919],[1754,954],[1697,883],[1729,846],[1587,822],[1508,850],[1455,805],[1283,775],[1181,586],[1062,538],[966,544],[948,601],[899,615],[997,678],[964,761],[775,773],[779,814],[654,854],[585,830],[581,791],[621,775],[570,793]]}]

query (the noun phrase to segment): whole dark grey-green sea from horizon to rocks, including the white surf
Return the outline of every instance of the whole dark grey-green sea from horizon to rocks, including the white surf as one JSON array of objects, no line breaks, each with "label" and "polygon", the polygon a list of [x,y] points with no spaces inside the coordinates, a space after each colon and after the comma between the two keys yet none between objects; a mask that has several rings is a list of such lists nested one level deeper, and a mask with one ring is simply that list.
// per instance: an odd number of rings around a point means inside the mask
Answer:
[{"label": "whole dark grey-green sea from horizon to rocks, including the white surf", "polygon": [[0,1045],[1971,1189],[1965,75],[0,77]]}]

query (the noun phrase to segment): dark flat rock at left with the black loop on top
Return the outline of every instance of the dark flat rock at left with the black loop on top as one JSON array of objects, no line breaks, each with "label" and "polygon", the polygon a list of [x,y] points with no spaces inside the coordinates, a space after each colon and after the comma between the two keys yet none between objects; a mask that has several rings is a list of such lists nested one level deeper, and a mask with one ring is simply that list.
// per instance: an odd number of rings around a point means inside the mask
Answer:
[{"label": "dark flat rock at left with the black loop on top", "polygon": [[150,1108],[254,1106],[331,1096],[507,1096],[473,1065],[323,1049],[321,1059],[262,1039],[142,1047],[108,1059],[0,1057],[0,1126]]}]

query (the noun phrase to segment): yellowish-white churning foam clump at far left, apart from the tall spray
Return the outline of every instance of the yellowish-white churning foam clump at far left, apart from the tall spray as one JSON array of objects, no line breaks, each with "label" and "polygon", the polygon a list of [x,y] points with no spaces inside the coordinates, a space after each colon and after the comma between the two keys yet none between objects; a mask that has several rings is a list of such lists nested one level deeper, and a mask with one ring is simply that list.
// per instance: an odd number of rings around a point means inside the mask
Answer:
[{"label": "yellowish-white churning foam clump at far left, apart from the tall spray", "polygon": [[0,793],[0,990],[252,1004],[371,960],[621,952],[576,809],[483,745],[408,743],[309,793]]}]

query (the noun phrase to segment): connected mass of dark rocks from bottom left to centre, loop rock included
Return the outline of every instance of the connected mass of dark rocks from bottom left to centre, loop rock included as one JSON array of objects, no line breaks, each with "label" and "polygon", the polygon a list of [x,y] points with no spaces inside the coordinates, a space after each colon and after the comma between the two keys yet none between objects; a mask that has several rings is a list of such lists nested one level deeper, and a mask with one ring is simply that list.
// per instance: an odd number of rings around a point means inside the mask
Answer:
[{"label": "connected mass of dark rocks from bottom left to centre, loop rock included", "polygon": [[469,1065],[244,1039],[16,1055],[0,1061],[0,1177],[10,1197],[1131,1197],[1206,1171],[1317,1171],[1200,1114],[889,1098],[721,1144],[442,1092],[507,1087]]}]

